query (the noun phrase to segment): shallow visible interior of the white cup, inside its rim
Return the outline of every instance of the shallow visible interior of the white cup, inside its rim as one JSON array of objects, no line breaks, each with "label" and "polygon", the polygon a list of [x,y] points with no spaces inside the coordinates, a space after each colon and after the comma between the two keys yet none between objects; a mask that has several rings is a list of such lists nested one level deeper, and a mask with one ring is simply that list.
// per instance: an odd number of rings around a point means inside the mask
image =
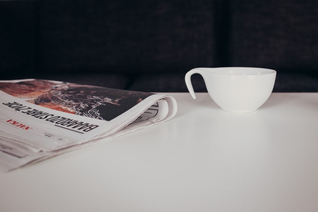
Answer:
[{"label": "shallow visible interior of the white cup, inside its rim", "polygon": [[222,68],[211,68],[207,70],[211,73],[216,74],[230,74],[230,75],[262,75],[271,74],[276,72],[272,69],[266,68],[251,68],[251,67],[222,67]]}]

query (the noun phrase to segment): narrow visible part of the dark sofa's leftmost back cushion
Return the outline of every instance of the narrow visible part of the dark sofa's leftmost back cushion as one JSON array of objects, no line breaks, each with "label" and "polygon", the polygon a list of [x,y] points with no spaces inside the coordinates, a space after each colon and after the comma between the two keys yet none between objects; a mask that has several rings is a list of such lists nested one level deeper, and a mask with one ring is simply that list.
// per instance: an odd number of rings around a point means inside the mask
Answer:
[{"label": "narrow visible part of the dark sofa's leftmost back cushion", "polygon": [[37,1],[0,1],[1,78],[34,72]]}]

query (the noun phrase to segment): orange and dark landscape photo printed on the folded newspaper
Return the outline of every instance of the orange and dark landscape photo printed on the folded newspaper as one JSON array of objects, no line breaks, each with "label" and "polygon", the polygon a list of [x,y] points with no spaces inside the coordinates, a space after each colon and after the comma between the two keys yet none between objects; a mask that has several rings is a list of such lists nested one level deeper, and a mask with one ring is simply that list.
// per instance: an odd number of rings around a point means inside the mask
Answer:
[{"label": "orange and dark landscape photo printed on the folded newspaper", "polygon": [[153,95],[41,79],[0,82],[0,90],[39,106],[107,121]]}]

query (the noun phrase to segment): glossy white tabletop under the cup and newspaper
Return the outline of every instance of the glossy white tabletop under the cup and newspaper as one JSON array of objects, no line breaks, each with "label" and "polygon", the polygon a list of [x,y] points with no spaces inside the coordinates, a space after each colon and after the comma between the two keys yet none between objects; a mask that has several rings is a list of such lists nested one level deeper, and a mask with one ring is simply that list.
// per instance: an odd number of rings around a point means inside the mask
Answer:
[{"label": "glossy white tabletop under the cup and newspaper", "polygon": [[318,93],[244,114],[169,95],[168,122],[0,173],[0,211],[318,211]]}]

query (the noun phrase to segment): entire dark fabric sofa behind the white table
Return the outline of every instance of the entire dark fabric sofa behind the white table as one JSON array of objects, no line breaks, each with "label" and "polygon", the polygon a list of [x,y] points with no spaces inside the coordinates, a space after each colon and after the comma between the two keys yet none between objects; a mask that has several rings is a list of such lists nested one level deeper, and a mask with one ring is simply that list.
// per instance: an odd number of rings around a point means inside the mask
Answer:
[{"label": "entire dark fabric sofa behind the white table", "polygon": [[[318,92],[318,1],[0,1],[1,79],[187,92],[197,67],[277,71]],[[195,91],[206,91],[194,75]]]}]

